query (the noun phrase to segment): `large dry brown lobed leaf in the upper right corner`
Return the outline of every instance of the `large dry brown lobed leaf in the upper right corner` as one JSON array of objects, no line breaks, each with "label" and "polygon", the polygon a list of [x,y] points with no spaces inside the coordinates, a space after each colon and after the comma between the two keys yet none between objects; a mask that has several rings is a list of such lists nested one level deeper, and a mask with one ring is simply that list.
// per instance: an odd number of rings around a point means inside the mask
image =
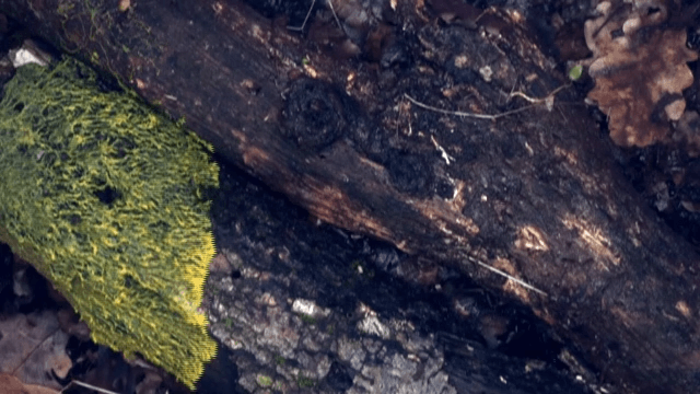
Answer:
[{"label": "large dry brown lobed leaf in the upper right corner", "polygon": [[585,24],[595,89],[588,99],[609,116],[610,138],[622,147],[669,141],[669,120],[685,112],[682,90],[692,84],[686,32],[664,30],[662,0],[603,1],[600,16]]}]

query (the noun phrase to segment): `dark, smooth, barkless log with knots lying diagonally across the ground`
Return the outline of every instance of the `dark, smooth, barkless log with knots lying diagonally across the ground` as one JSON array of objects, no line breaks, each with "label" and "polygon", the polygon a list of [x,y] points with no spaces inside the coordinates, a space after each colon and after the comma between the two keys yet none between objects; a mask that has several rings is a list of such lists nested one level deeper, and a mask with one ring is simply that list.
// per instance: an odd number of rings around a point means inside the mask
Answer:
[{"label": "dark, smooth, barkless log with knots lying diagonally across the ground", "polygon": [[602,382],[700,386],[697,255],[635,197],[585,108],[562,104],[580,97],[561,90],[551,111],[509,100],[567,83],[518,13],[444,24],[422,1],[399,2],[354,26],[366,37],[358,61],[232,0],[105,3],[0,9],[184,116],[320,220],[520,299]]}]

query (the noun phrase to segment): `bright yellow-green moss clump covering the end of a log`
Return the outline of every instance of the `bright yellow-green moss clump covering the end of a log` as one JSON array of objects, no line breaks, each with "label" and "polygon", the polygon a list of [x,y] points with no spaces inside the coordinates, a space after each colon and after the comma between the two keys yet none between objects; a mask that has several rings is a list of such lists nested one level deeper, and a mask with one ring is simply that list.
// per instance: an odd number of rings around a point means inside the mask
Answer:
[{"label": "bright yellow-green moss clump covering the end of a log", "polygon": [[214,254],[211,147],[77,60],[22,67],[0,102],[0,240],[96,343],[190,387],[215,343],[198,311]]}]

